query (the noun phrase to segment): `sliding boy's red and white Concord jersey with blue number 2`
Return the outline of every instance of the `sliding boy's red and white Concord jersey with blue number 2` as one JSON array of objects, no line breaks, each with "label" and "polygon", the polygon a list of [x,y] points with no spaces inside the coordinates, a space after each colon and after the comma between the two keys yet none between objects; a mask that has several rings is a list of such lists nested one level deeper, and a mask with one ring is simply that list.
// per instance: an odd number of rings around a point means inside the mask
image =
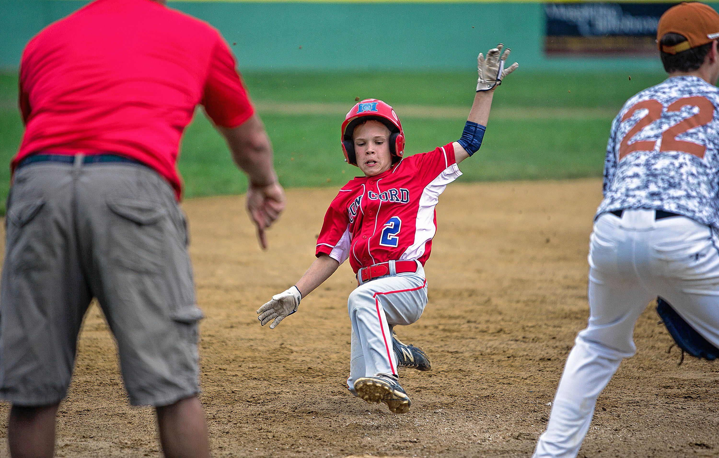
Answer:
[{"label": "sliding boy's red and white Concord jersey with blue number 2", "polygon": [[327,209],[316,255],[340,264],[349,258],[355,273],[389,260],[424,265],[437,231],[434,207],[460,175],[450,143],[406,157],[380,175],[354,178]]}]

